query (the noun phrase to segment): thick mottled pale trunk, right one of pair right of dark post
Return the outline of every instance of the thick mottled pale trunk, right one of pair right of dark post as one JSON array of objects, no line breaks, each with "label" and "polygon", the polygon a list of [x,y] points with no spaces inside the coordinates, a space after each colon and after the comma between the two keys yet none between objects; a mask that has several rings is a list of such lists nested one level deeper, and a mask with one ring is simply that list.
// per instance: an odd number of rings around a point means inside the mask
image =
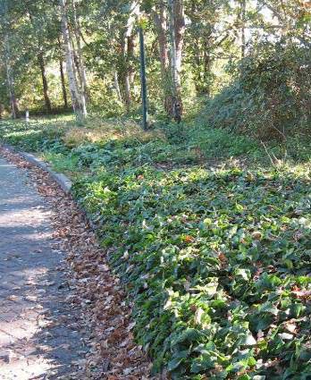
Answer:
[{"label": "thick mottled pale trunk, right one of pair right of dark post", "polygon": [[183,0],[169,0],[170,35],[171,35],[171,69],[172,69],[172,116],[181,122],[181,63],[185,34],[185,17]]}]

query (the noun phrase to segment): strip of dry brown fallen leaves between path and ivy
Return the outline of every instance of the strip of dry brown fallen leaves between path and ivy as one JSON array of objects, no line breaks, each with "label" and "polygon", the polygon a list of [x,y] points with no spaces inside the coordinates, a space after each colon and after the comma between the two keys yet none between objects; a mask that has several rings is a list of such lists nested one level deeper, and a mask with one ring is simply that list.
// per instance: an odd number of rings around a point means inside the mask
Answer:
[{"label": "strip of dry brown fallen leaves between path and ivy", "polygon": [[[0,153],[21,169],[27,169],[38,193],[52,207],[55,249],[67,253],[69,295],[66,302],[80,310],[79,323],[71,328],[85,333],[89,351],[85,359],[73,363],[80,367],[76,379],[151,380],[151,363],[142,347],[134,342],[130,319],[120,280],[111,273],[105,250],[97,243],[87,218],[71,196],[50,178],[49,174],[29,164],[11,149],[0,147]],[[61,268],[63,269],[63,268]],[[162,378],[164,378],[162,376]]]}]

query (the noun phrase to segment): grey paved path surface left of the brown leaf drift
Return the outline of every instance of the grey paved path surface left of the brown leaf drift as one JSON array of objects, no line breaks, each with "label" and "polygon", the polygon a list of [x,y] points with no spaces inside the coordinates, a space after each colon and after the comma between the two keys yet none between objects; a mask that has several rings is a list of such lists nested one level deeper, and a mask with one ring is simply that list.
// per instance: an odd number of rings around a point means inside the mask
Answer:
[{"label": "grey paved path surface left of the brown leaf drift", "polygon": [[85,348],[50,209],[0,157],[0,379],[75,379]]}]

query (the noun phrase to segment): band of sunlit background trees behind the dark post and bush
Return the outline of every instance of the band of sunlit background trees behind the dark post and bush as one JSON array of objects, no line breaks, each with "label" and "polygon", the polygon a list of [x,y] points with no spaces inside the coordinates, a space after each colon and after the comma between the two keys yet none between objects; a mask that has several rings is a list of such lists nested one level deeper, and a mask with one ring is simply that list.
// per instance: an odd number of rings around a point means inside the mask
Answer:
[{"label": "band of sunlit background trees behind the dark post and bush", "polygon": [[139,110],[141,25],[150,112],[175,119],[198,97],[214,97],[234,81],[241,60],[257,64],[254,57],[261,61],[271,48],[278,59],[280,46],[307,52],[311,37],[309,3],[298,0],[0,5],[0,102],[13,117],[20,108],[51,113],[69,103],[80,117]]}]

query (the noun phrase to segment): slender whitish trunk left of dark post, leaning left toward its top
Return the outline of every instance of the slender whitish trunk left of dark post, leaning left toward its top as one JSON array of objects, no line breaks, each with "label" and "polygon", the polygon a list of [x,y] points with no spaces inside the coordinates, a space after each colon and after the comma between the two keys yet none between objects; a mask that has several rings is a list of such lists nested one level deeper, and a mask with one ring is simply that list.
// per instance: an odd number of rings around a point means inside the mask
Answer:
[{"label": "slender whitish trunk left of dark post, leaning left toward its top", "polygon": [[66,0],[59,0],[61,11],[62,11],[62,31],[63,31],[63,42],[66,55],[66,66],[67,66],[67,75],[69,81],[69,88],[71,91],[71,101],[73,111],[76,114],[77,118],[83,119],[87,117],[87,107],[84,94],[81,93],[79,84],[74,72],[74,63],[72,55],[72,46],[71,38],[69,33],[69,26],[67,20],[67,4]]}]

